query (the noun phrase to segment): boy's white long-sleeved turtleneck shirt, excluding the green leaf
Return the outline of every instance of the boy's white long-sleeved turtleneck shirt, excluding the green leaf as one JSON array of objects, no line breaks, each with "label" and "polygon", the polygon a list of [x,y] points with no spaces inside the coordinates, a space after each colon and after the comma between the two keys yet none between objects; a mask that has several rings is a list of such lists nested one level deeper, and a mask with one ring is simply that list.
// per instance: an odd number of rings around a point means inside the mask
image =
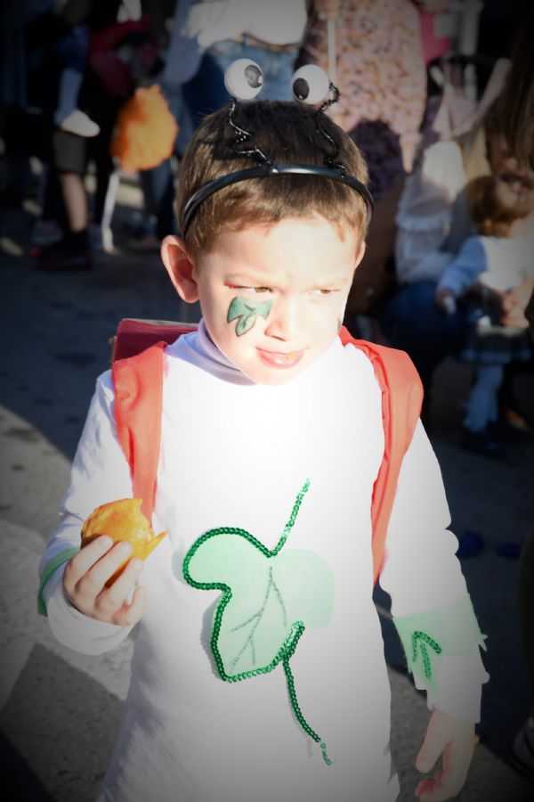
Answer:
[{"label": "boy's white long-sleeved turtleneck shirt, excluding the green leaf", "polygon": [[[101,802],[397,798],[388,746],[390,688],[372,601],[369,513],[383,448],[372,365],[340,340],[294,381],[276,387],[248,381],[214,347],[202,323],[166,348],[153,528],[168,529],[168,536],[142,570],[147,607]],[[310,487],[280,554],[287,565],[312,552],[332,593],[323,620],[306,626],[290,666],[303,718],[325,742],[332,765],[297,721],[281,664],[223,682],[210,649],[222,593],[193,587],[183,576],[191,545],[214,528],[242,528],[273,549],[306,479]],[[94,507],[130,495],[107,372],[97,382],[63,522],[42,566],[79,544],[82,522]],[[381,579],[393,615],[465,597],[448,525],[439,466],[418,424],[401,471]],[[59,569],[44,589],[61,642],[95,654],[125,638],[128,629],[77,612],[61,575]],[[310,603],[322,593],[308,574],[289,570],[286,578],[287,587]],[[257,597],[257,588],[249,593]],[[486,678],[478,649],[473,659],[445,658],[429,704],[476,720]]]}]

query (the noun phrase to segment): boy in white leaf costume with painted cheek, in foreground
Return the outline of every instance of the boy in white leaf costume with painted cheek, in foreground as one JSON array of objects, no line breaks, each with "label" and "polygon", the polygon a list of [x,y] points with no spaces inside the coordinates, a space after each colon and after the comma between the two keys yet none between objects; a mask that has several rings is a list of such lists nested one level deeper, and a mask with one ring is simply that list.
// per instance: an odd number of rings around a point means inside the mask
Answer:
[{"label": "boy in white leaf costume with painted cheek, in foreground", "polygon": [[[255,157],[312,175],[239,172]],[[365,248],[366,179],[352,140],[295,103],[217,111],[186,151],[183,237],[167,237],[162,258],[203,320],[165,354],[153,527],[169,534],[109,588],[129,546],[105,536],[44,586],[53,632],[79,651],[112,648],[139,622],[100,800],[397,798],[372,600],[381,391],[368,358],[337,338]],[[131,495],[105,373],[42,571],[79,545],[94,507]],[[412,667],[434,709],[417,766],[444,757],[444,771],[418,786],[428,802],[465,780],[486,679],[448,524],[418,424],[381,581],[401,634],[425,655]]]}]

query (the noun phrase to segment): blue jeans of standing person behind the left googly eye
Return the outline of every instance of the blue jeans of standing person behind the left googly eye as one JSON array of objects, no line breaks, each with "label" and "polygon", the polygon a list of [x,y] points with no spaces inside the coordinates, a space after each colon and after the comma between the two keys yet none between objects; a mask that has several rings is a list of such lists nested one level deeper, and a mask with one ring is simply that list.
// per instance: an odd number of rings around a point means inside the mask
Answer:
[{"label": "blue jeans of standing person behind the left googly eye", "polygon": [[224,73],[236,59],[252,59],[263,70],[263,87],[258,94],[260,100],[293,100],[291,78],[295,71],[298,45],[285,53],[271,53],[263,47],[224,39],[208,47],[202,57],[198,72],[183,87],[183,98],[190,110],[193,125],[212,111],[221,109],[230,102],[230,94],[224,86]]}]

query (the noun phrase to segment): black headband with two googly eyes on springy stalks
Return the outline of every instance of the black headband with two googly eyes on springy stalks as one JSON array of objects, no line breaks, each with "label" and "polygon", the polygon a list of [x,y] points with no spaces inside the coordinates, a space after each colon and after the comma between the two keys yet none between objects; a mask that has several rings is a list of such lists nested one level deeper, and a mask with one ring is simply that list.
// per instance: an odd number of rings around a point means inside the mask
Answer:
[{"label": "black headband with two googly eyes on springy stalks", "polygon": [[[236,135],[232,150],[236,155],[250,157],[252,160],[256,160],[259,163],[256,167],[235,170],[225,176],[214,178],[213,181],[209,181],[207,184],[204,184],[204,186],[201,186],[197,192],[193,192],[183,208],[181,226],[183,237],[185,237],[190,222],[198,211],[198,207],[206,201],[206,198],[213,195],[214,192],[219,192],[219,190],[222,190],[225,186],[237,184],[239,181],[267,176],[320,176],[339,181],[342,184],[347,184],[347,186],[359,192],[365,201],[369,224],[373,214],[373,197],[365,184],[362,184],[358,178],[348,175],[344,165],[336,161],[339,149],[335,141],[321,124],[322,112],[335,103],[339,97],[336,86],[328,80],[328,75],[324,70],[321,70],[321,68],[315,64],[307,64],[299,70],[296,70],[291,81],[295,101],[310,105],[315,105],[323,101],[320,108],[316,111],[315,124],[332,149],[331,152],[325,156],[323,165],[296,163],[275,164],[260,148],[254,145],[250,148],[240,147],[241,145],[249,143],[253,135],[250,131],[239,127],[235,121],[235,112],[239,101],[254,100],[255,96],[261,92],[263,86],[263,72],[259,64],[251,59],[238,59],[237,61],[233,61],[224,75],[224,86],[226,86],[227,92],[231,95],[228,122]],[[330,93],[331,97],[326,99],[327,95]]]}]

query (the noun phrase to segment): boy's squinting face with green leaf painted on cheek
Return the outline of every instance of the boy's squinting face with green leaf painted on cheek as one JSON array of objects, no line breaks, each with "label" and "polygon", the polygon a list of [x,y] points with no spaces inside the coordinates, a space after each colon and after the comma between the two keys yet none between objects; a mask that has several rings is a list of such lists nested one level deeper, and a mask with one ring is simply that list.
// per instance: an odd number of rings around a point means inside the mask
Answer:
[{"label": "boy's squinting face with green leaf painted on cheek", "polygon": [[191,271],[214,344],[255,382],[295,379],[336,339],[357,246],[319,215],[221,233]]}]

